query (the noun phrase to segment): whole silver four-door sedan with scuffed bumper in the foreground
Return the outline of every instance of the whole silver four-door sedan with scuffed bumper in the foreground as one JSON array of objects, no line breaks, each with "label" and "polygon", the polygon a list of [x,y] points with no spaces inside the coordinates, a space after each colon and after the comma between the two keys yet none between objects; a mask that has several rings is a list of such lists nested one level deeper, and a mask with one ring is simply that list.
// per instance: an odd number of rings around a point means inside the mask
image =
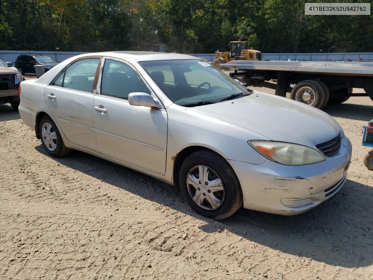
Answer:
[{"label": "whole silver four-door sedan with scuffed bumper in the foreground", "polygon": [[21,87],[22,120],[50,155],[80,150],[159,178],[206,217],[298,214],[346,180],[351,143],[333,118],[192,56],[79,55]]}]

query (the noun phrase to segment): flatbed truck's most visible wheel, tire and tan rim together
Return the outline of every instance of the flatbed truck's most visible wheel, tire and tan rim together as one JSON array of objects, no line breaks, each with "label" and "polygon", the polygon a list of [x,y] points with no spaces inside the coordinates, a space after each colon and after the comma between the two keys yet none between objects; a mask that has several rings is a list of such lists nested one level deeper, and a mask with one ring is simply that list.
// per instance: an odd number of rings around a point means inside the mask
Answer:
[{"label": "flatbed truck's most visible wheel, tire and tan rim together", "polygon": [[324,105],[326,93],[319,81],[307,80],[293,87],[290,98],[320,109]]}]

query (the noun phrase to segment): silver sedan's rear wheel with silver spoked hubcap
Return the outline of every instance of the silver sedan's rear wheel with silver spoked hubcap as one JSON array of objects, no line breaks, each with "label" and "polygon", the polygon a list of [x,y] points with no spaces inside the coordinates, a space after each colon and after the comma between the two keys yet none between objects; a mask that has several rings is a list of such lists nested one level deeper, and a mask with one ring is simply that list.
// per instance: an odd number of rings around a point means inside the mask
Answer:
[{"label": "silver sedan's rear wheel with silver spoked hubcap", "polygon": [[66,148],[56,124],[49,116],[43,116],[40,121],[39,131],[41,143],[48,154],[59,158],[70,153],[71,150]]}]

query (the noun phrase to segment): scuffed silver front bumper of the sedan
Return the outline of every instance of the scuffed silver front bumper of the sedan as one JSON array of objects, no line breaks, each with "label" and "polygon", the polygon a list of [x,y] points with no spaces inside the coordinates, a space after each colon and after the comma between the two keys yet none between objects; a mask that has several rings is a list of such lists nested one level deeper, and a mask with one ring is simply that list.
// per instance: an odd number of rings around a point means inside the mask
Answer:
[{"label": "scuffed silver front bumper of the sedan", "polygon": [[244,208],[280,215],[308,211],[337,193],[351,160],[351,142],[342,138],[339,151],[323,162],[289,166],[228,161],[240,181]]}]

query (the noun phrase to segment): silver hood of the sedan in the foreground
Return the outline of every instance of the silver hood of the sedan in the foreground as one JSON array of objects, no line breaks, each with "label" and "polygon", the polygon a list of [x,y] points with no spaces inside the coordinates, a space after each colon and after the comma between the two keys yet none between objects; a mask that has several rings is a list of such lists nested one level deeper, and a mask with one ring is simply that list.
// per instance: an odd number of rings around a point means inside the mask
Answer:
[{"label": "silver hood of the sedan in the foreground", "polygon": [[188,109],[247,128],[273,141],[308,147],[333,139],[341,132],[338,123],[319,109],[258,91]]}]

